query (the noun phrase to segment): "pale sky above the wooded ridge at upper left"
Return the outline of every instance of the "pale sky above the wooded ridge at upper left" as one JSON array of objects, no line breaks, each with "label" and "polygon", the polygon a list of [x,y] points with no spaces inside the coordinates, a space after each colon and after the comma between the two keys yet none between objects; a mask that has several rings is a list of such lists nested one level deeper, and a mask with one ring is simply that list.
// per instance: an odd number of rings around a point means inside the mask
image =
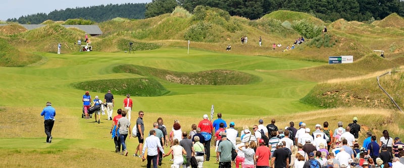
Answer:
[{"label": "pale sky above the wooded ridge at upper left", "polygon": [[0,0],[0,20],[45,13],[66,8],[90,7],[108,4],[150,3],[151,0]]}]

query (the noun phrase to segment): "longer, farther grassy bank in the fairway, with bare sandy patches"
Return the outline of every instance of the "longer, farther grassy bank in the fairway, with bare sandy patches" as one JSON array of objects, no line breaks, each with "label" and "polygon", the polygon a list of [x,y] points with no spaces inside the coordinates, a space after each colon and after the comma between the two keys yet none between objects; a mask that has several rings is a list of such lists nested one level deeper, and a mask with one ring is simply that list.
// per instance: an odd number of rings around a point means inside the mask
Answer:
[{"label": "longer, farther grassy bank in the fairway, with bare sandy patches", "polygon": [[259,80],[259,77],[231,70],[211,70],[195,73],[173,72],[137,65],[114,67],[117,73],[132,73],[141,76],[155,76],[160,79],[186,85],[243,85]]}]

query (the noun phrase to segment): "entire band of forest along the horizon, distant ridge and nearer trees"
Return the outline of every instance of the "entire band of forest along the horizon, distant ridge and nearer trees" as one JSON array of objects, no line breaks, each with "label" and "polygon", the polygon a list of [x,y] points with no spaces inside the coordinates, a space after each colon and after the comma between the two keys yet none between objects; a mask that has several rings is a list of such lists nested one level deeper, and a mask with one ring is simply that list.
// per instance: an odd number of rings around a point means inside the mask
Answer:
[{"label": "entire band of forest along the horizon, distant ridge and nearer trees", "polygon": [[147,4],[102,5],[65,10],[55,10],[49,14],[37,13],[20,18],[8,19],[8,22],[20,24],[39,24],[46,20],[65,21],[67,19],[87,19],[103,22],[116,17],[144,19],[171,13],[181,6],[190,13],[196,6],[209,6],[227,11],[231,16],[240,16],[250,20],[278,10],[304,12],[324,21],[374,21],[396,13],[404,16],[404,1],[400,0],[153,0]]}]

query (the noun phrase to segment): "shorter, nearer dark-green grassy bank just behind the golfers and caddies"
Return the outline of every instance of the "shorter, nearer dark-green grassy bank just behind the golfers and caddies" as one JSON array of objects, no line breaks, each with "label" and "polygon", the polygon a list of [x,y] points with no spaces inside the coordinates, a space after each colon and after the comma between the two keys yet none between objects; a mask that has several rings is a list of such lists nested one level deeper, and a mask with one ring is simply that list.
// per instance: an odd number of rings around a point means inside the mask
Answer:
[{"label": "shorter, nearer dark-green grassy bank just behind the golfers and caddies", "polygon": [[132,96],[153,97],[162,96],[169,91],[153,78],[127,78],[107,79],[88,81],[74,84],[74,87],[81,90],[106,93],[113,90],[114,94],[125,96],[129,93]]}]

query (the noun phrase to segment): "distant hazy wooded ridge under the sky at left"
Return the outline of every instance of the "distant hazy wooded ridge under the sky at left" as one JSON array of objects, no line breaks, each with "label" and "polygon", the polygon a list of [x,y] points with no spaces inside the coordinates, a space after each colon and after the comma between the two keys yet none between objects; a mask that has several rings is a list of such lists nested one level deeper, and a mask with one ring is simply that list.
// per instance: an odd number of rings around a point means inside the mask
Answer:
[{"label": "distant hazy wooded ridge under the sky at left", "polygon": [[144,19],[146,4],[121,4],[121,5],[100,5],[82,8],[67,8],[65,10],[55,10],[49,14],[37,13],[21,16],[18,19],[7,19],[8,22],[18,22],[20,24],[40,24],[46,20],[66,21],[68,19],[86,19],[95,22],[103,22],[116,17],[129,19]]}]

